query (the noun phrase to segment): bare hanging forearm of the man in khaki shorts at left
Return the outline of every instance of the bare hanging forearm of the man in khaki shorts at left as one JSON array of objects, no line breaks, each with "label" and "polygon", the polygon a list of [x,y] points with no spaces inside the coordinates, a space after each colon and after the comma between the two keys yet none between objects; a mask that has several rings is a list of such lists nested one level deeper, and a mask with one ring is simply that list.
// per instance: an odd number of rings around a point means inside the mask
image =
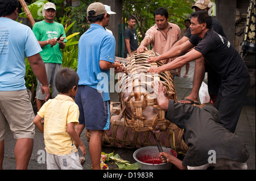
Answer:
[{"label": "bare hanging forearm of the man in khaki shorts at left", "polygon": [[46,101],[49,99],[50,90],[48,79],[46,75],[46,66],[44,66],[44,62],[42,57],[39,53],[35,54],[34,56],[27,57],[28,62],[30,62],[31,69],[36,78],[38,78],[39,82],[42,83],[41,91],[42,93],[46,93]]}]

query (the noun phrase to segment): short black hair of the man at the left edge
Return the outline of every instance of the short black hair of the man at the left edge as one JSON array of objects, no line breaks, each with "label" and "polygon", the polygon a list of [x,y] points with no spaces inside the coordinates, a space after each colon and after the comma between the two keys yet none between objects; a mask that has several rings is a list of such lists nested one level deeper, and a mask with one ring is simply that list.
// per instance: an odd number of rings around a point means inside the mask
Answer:
[{"label": "short black hair of the man at the left edge", "polygon": [[12,14],[18,6],[18,0],[0,0],[0,17]]}]

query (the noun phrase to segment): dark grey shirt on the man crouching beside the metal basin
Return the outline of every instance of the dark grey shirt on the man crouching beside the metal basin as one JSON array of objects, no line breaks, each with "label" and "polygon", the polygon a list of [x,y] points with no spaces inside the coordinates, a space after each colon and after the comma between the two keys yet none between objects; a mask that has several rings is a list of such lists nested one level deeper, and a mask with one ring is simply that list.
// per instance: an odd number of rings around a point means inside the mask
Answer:
[{"label": "dark grey shirt on the man crouching beside the metal basin", "polygon": [[227,158],[245,163],[249,151],[238,136],[215,123],[212,115],[199,107],[175,103],[169,100],[166,119],[184,129],[184,141],[188,151],[182,164],[201,166],[208,163],[209,150],[216,151],[216,159]]}]

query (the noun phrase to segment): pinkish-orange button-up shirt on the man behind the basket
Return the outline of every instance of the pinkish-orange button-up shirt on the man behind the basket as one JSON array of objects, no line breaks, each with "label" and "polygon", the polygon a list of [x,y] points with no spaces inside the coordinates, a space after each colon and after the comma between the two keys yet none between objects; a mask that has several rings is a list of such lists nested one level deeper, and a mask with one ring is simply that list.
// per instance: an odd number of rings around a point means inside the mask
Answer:
[{"label": "pinkish-orange button-up shirt on the man behind the basket", "polygon": [[156,26],[152,26],[147,30],[145,38],[150,38],[152,50],[160,55],[168,52],[172,45],[182,37],[180,27],[174,23],[168,22],[168,30],[166,35]]}]

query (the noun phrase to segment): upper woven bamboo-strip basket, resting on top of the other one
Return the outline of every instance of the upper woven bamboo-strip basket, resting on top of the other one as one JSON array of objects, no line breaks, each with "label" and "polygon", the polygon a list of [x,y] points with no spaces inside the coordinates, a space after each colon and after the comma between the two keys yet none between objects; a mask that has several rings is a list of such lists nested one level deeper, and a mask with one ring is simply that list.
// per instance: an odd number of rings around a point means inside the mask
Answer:
[{"label": "upper woven bamboo-strip basket, resting on top of the other one", "polygon": [[[151,85],[154,80],[162,81],[163,85],[167,88],[167,98],[177,100],[177,95],[175,92],[174,81],[172,79],[171,71],[164,71],[160,74],[150,74],[147,73],[147,69],[151,67],[158,67],[163,65],[162,62],[157,63],[148,63],[146,62],[148,57],[159,56],[157,53],[152,50],[148,50],[144,53],[138,54],[135,50],[130,54],[127,59],[129,62],[125,65],[126,69],[130,71],[129,75],[121,74],[118,78],[119,83],[119,99],[121,102],[121,108],[123,117],[125,119],[125,124],[127,127],[130,127],[135,132],[145,132],[154,130],[156,126],[160,128],[160,131],[167,129],[170,125],[170,121],[164,119],[165,111],[161,110],[157,105],[156,96],[152,92]],[[142,79],[142,77],[145,77]],[[145,81],[146,80],[146,81]],[[142,92],[140,86],[143,86],[147,89],[150,94]],[[131,87],[133,87],[131,89]],[[125,100],[125,92],[131,92],[129,98]],[[147,120],[143,116],[143,111],[147,106],[153,106],[157,114],[153,120]],[[133,115],[130,116],[126,108],[131,108]]]}]

